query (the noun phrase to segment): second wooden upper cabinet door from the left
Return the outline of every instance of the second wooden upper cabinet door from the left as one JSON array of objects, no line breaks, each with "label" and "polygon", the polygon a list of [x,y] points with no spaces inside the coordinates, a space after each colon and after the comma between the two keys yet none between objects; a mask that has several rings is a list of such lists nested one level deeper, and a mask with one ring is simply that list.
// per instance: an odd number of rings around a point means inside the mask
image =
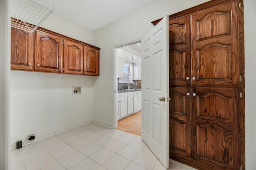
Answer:
[{"label": "second wooden upper cabinet door from the left", "polygon": [[61,72],[63,39],[50,33],[36,31],[35,70]]}]

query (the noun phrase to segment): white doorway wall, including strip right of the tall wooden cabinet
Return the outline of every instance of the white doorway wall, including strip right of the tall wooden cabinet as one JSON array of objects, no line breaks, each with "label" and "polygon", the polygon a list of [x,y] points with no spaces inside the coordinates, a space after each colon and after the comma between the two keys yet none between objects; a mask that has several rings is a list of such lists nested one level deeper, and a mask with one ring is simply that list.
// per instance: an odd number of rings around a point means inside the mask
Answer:
[{"label": "white doorway wall, including strip right of the tall wooden cabinet", "polygon": [[[142,38],[153,27],[151,21],[174,14],[208,0],[160,0],[142,10],[93,32],[94,45],[101,48],[100,77],[94,78],[93,118],[113,127],[114,124],[114,53],[116,45]],[[246,68],[246,169],[256,167],[256,2],[245,0],[245,68]],[[104,84],[104,87],[102,86]],[[98,100],[100,98],[100,100]],[[101,107],[98,107],[101,106]]]}]

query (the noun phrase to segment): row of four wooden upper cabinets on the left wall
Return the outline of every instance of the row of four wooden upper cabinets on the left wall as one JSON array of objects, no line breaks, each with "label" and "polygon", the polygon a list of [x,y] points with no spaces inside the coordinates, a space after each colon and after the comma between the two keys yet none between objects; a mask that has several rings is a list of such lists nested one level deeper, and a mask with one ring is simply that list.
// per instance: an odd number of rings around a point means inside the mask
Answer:
[{"label": "row of four wooden upper cabinets on the left wall", "polygon": [[100,48],[47,29],[28,33],[12,28],[12,70],[99,76],[99,55]]}]

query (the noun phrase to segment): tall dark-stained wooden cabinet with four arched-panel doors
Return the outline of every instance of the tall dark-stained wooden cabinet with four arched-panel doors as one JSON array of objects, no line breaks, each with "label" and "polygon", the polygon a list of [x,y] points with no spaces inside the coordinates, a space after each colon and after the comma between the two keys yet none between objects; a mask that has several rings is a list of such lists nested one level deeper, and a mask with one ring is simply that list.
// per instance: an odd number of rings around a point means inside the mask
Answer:
[{"label": "tall dark-stained wooden cabinet with four arched-panel doors", "polygon": [[198,169],[241,165],[238,2],[169,16],[169,155]]}]

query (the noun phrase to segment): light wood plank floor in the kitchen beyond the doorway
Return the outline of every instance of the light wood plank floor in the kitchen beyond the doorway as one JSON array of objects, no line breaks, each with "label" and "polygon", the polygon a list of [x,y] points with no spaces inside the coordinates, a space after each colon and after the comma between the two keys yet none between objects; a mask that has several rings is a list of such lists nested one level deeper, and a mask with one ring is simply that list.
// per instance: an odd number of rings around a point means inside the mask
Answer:
[{"label": "light wood plank floor in the kitchen beyond the doorway", "polygon": [[141,136],[141,111],[118,120],[117,129]]}]

